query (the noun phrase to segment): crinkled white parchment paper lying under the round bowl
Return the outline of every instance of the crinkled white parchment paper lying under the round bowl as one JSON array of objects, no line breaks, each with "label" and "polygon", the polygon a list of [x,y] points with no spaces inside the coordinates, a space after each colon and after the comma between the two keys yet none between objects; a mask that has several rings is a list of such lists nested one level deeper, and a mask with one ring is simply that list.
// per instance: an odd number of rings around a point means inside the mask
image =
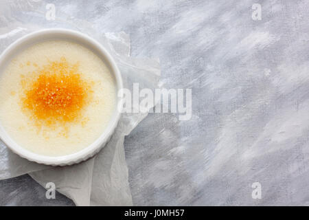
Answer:
[{"label": "crinkled white parchment paper lying under the round bowl", "polygon": [[[32,2],[45,5],[44,1]],[[18,6],[18,7],[17,7]],[[155,89],[160,77],[159,61],[130,57],[128,34],[102,33],[92,30],[87,21],[56,17],[47,21],[41,11],[34,10],[29,1],[0,9],[0,52],[21,36],[43,28],[70,28],[93,37],[112,54],[122,73],[124,87]],[[35,8],[40,8],[36,6]],[[44,8],[43,8],[44,9]],[[19,16],[17,16],[19,14]],[[40,14],[43,18],[38,19]],[[23,19],[33,17],[33,19]],[[30,162],[12,153],[0,142],[0,179],[8,179],[28,173],[39,184],[54,182],[56,190],[66,195],[78,206],[130,206],[132,197],[128,186],[128,167],[124,155],[124,137],[132,131],[148,113],[123,113],[111,140],[100,153],[85,162],[73,166],[53,167]]]}]

